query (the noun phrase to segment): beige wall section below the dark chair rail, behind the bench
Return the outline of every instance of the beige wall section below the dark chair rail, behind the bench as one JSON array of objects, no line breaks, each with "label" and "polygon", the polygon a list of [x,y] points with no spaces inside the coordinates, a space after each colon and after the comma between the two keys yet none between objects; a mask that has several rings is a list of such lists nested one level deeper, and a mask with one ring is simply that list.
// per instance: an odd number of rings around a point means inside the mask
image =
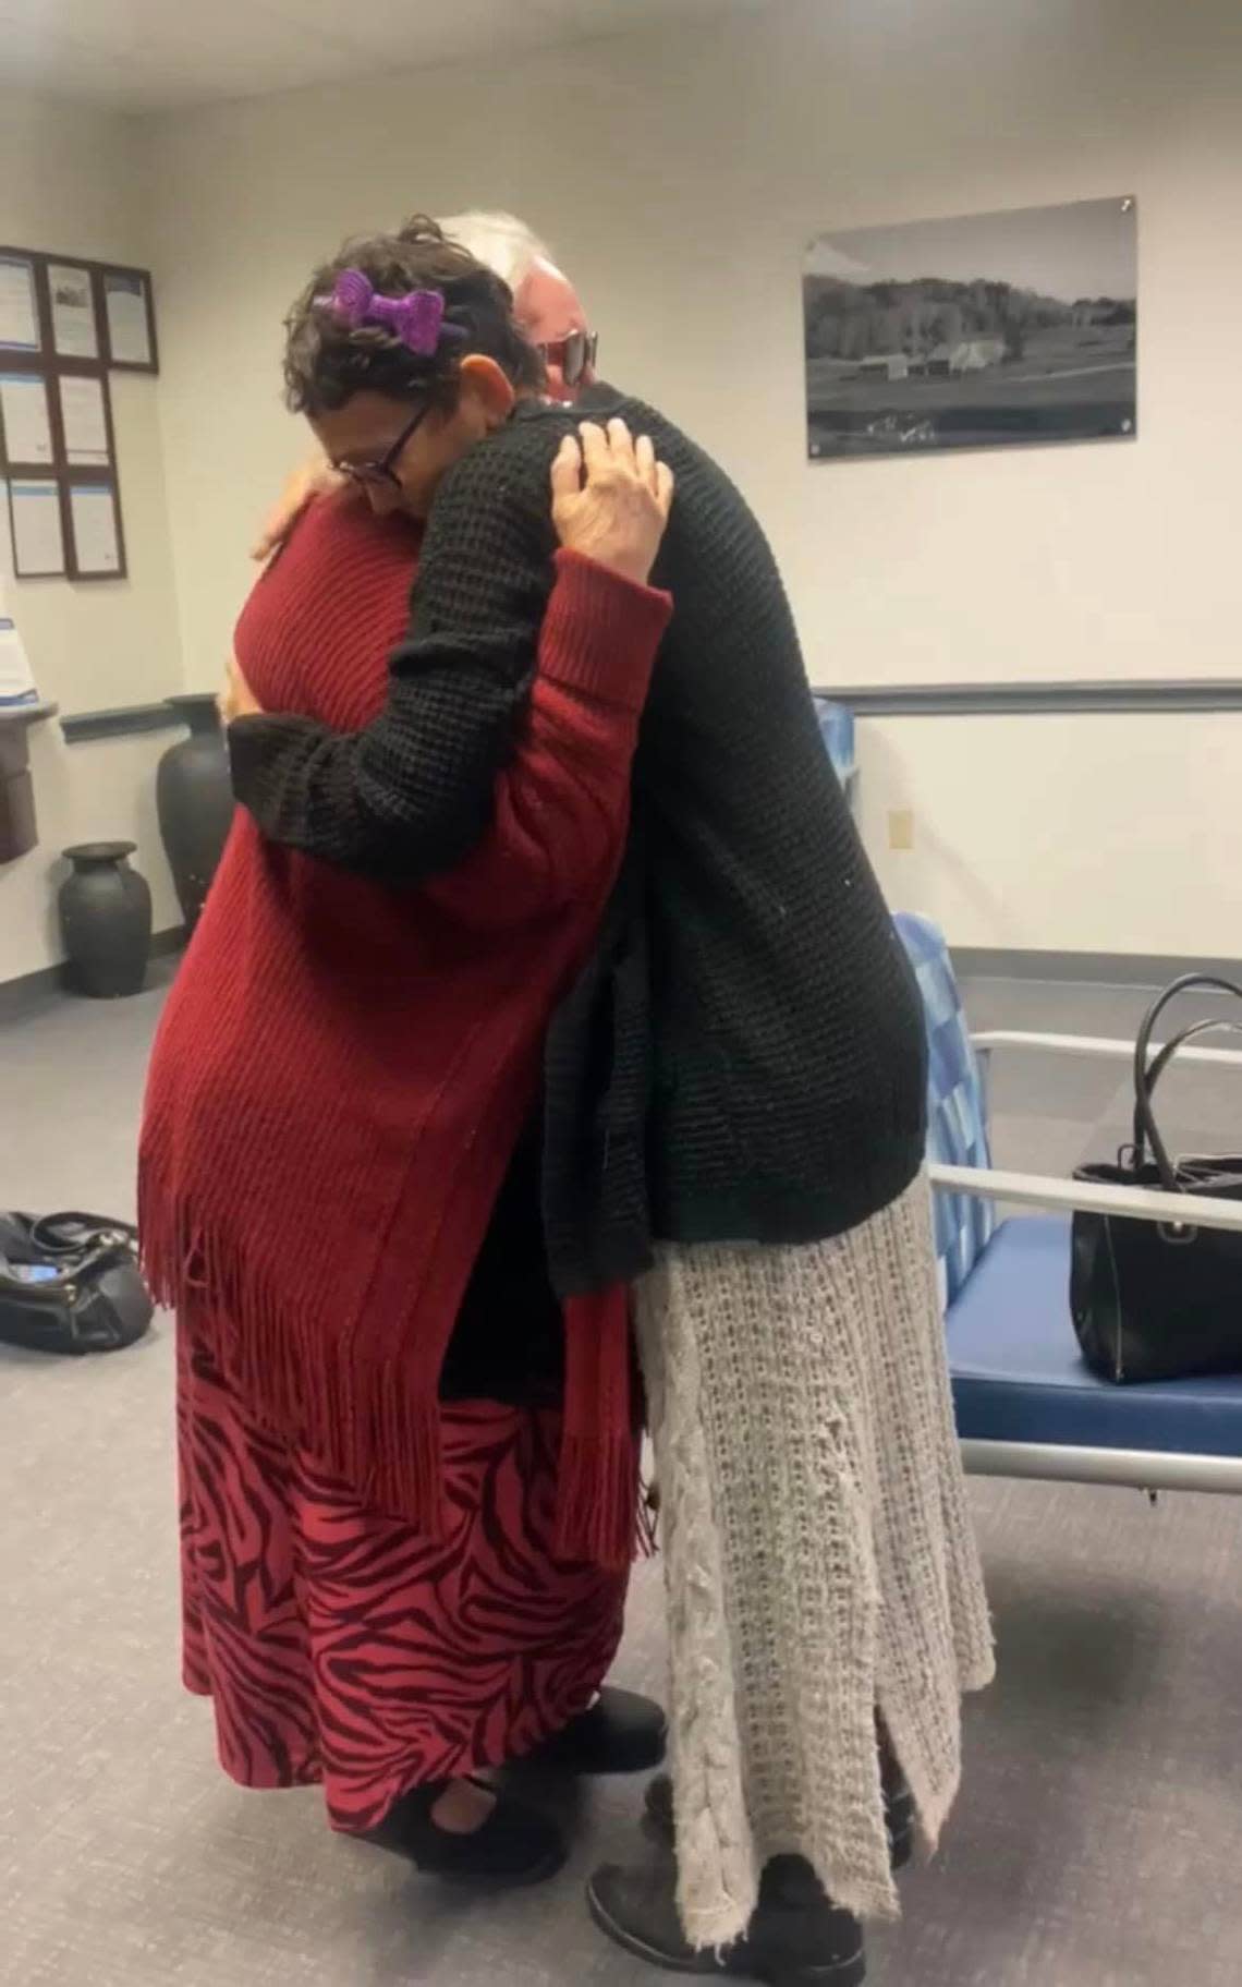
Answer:
[{"label": "beige wall section below the dark chair rail, behind the bench", "polygon": [[[1242,956],[1242,713],[876,717],[862,835],[890,900],[962,946]],[[888,809],[916,846],[886,854]]]}]

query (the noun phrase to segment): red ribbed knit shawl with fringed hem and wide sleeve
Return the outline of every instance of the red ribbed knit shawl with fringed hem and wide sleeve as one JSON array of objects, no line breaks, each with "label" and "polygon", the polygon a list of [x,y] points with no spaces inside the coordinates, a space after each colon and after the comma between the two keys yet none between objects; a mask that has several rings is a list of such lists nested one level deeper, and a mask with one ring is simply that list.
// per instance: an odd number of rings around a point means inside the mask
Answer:
[{"label": "red ribbed knit shawl with fringed hem and wide sleeve", "polygon": [[[314,505],[236,630],[260,701],[366,725],[415,560],[407,523]],[[147,1087],[153,1288],[173,1303],[207,1292],[252,1411],[427,1530],[447,1337],[548,1015],[620,862],[668,622],[666,598],[574,554],[556,554],[552,578],[489,833],[451,876],[397,890],[272,846],[238,815]],[[614,1313],[616,1296],[606,1315],[566,1313],[566,1484],[578,1516],[616,1518],[624,1558],[632,1429]],[[582,1558],[594,1542],[584,1530]]]}]

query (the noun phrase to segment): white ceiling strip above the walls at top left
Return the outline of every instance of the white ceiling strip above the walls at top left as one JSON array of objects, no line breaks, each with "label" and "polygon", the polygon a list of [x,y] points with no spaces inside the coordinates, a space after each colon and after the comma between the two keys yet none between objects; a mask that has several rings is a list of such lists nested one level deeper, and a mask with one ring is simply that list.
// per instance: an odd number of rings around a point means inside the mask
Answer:
[{"label": "white ceiling strip above the walls at top left", "polygon": [[745,0],[0,0],[0,83],[151,111],[552,48],[735,4]]}]

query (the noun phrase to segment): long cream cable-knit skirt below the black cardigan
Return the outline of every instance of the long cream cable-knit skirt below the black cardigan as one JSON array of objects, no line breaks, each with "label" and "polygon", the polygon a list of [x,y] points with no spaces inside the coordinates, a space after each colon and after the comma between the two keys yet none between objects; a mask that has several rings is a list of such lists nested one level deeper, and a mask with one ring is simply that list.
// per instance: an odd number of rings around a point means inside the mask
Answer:
[{"label": "long cream cable-knit skirt below the black cardigan", "polygon": [[666,1248],[636,1323],[686,1935],[739,1937],[779,1854],[892,1915],[876,1711],[934,1846],[994,1673],[926,1180],[833,1242]]}]

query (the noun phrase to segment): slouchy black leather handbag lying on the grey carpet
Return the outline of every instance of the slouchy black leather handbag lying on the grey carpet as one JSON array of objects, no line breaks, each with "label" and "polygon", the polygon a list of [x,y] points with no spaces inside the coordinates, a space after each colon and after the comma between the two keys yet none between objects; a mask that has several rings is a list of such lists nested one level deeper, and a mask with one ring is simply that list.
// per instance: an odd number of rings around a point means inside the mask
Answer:
[{"label": "slouchy black leather handbag lying on the grey carpet", "polygon": [[105,1214],[0,1214],[0,1341],[113,1353],[141,1339],[151,1298],[137,1230]]}]

